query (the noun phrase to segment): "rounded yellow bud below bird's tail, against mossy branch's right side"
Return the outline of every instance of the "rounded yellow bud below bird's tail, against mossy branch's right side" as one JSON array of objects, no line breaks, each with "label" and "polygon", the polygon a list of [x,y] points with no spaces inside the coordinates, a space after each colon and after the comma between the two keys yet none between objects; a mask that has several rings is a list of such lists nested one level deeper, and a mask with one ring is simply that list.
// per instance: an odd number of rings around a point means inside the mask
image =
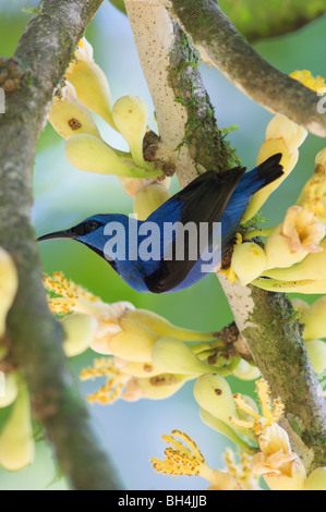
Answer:
[{"label": "rounded yellow bud below bird's tail, against mossy branch's right side", "polygon": [[237,245],[232,254],[231,265],[240,284],[246,285],[261,276],[266,267],[264,249],[253,242]]}]

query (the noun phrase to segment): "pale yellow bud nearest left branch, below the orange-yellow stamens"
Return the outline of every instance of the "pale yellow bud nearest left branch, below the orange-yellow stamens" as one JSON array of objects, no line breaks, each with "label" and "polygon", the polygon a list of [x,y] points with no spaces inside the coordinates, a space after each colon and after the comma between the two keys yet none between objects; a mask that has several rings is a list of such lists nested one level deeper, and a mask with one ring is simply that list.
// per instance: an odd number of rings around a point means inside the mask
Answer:
[{"label": "pale yellow bud nearest left branch, below the orange-yellow stamens", "polygon": [[65,333],[63,350],[68,357],[80,355],[90,346],[98,327],[94,316],[76,313],[65,317],[61,324]]}]

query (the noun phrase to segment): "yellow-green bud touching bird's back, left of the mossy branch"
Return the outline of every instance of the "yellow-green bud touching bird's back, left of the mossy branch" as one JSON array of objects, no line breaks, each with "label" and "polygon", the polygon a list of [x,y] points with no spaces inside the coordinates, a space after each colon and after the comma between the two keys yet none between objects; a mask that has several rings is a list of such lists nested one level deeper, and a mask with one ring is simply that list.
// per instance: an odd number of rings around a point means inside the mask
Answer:
[{"label": "yellow-green bud touching bird's back, left of the mossy branch", "polygon": [[171,197],[167,187],[160,183],[144,186],[136,193],[134,214],[138,220],[146,220],[159,206]]}]

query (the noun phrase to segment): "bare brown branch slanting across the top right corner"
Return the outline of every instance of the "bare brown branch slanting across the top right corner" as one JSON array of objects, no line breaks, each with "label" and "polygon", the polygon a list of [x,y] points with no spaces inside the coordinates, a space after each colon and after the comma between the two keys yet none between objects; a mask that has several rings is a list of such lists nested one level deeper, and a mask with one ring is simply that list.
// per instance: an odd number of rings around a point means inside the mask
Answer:
[{"label": "bare brown branch slanting across the top right corner", "polygon": [[183,27],[201,58],[249,98],[314,135],[326,137],[326,113],[317,111],[317,95],[265,61],[215,0],[160,0],[160,3]]}]

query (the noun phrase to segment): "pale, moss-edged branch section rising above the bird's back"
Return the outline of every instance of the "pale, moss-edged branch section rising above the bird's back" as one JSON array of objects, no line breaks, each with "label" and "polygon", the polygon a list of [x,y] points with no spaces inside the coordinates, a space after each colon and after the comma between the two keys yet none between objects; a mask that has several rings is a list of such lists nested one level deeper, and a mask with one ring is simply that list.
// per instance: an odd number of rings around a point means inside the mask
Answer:
[{"label": "pale, moss-edged branch section rising above the bird's back", "polygon": [[124,3],[155,105],[160,135],[156,158],[176,168],[182,186],[207,168],[221,171],[231,151],[216,126],[197,53],[156,1]]}]

